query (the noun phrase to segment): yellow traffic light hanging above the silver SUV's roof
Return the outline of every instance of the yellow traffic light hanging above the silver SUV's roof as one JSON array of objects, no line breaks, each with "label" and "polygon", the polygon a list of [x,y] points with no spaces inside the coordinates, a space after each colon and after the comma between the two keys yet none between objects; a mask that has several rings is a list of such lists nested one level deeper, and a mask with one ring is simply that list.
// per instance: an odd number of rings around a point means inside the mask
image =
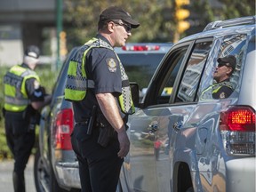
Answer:
[{"label": "yellow traffic light hanging above the silver SUV's roof", "polygon": [[183,33],[190,27],[187,20],[190,12],[183,6],[188,5],[189,0],[175,0],[175,20],[177,22],[177,32],[179,34]]}]

